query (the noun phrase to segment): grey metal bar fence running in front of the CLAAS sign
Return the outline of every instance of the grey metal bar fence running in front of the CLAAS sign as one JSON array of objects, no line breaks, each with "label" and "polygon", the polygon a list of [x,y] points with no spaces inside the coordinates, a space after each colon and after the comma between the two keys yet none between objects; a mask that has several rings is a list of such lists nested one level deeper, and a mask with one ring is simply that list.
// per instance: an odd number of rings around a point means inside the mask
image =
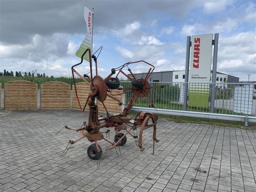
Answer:
[{"label": "grey metal bar fence running in front of the CLAAS sign", "polygon": [[[185,83],[149,82],[151,86],[164,85],[163,88],[153,88],[148,97],[157,109],[183,110]],[[254,84],[234,83],[187,83],[188,95],[186,111],[210,113],[211,87],[215,87],[214,114],[256,116],[256,86]],[[131,87],[131,82],[121,82],[123,87]],[[126,100],[132,93],[126,94]],[[145,97],[140,97],[134,107],[151,108]]]}]

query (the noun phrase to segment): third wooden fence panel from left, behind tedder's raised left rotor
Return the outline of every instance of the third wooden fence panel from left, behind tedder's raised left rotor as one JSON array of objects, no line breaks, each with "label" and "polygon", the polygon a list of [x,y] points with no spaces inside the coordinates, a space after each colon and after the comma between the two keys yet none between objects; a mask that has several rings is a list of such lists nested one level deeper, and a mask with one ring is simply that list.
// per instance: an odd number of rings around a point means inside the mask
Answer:
[{"label": "third wooden fence panel from left, behind tedder's raised left rotor", "polygon": [[[75,87],[74,85],[72,86],[72,109],[80,109],[77,99],[76,99],[76,91],[75,91]],[[89,95],[89,91],[90,91],[90,86],[87,85],[85,82],[81,82],[81,83],[76,83],[76,90],[77,90],[77,95],[81,104],[81,107],[84,108],[84,104],[87,100],[87,97]],[[89,110],[88,105],[86,106],[85,110]]]}]

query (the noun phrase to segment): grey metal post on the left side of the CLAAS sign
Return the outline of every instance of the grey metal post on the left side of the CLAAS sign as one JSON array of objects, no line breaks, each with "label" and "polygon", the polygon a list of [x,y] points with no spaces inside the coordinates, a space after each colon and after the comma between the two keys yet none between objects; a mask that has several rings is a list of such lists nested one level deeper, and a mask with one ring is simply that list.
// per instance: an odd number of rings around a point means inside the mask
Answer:
[{"label": "grey metal post on the left side of the CLAAS sign", "polygon": [[189,55],[190,55],[190,36],[187,36],[187,51],[186,51],[186,70],[185,70],[185,86],[183,92],[183,111],[187,110],[187,97],[188,97],[188,69],[189,69]]}]

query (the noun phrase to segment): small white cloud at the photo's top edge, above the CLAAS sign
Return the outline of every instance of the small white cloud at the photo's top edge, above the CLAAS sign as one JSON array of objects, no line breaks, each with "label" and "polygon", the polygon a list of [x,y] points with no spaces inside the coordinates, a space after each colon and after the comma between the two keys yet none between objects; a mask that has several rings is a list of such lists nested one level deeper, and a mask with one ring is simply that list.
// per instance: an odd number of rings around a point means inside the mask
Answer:
[{"label": "small white cloud at the photo's top edge, above the CLAAS sign", "polygon": [[214,0],[204,4],[205,13],[216,13],[226,9],[228,5],[233,4],[232,0]]}]

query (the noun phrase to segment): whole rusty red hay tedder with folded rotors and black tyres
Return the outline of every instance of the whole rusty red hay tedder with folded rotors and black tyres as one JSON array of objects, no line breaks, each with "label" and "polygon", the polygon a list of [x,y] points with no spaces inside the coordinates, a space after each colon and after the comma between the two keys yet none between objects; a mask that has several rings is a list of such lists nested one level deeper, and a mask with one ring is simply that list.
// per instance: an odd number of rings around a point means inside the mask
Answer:
[{"label": "whole rusty red hay tedder with folded rotors and black tyres", "polygon": [[[76,70],[75,67],[82,64],[83,62],[83,56],[84,54],[88,52],[90,56],[90,72],[88,73],[89,75],[80,75]],[[154,104],[151,102],[151,100],[148,97],[148,93],[151,88],[156,88],[156,87],[163,87],[163,86],[150,86],[148,83],[148,78],[154,71],[155,67],[143,60],[140,61],[135,61],[135,62],[128,62],[125,63],[124,65],[118,67],[118,68],[112,68],[111,73],[106,77],[102,78],[101,76],[98,75],[97,72],[97,58],[92,55],[91,56],[91,50],[87,49],[84,54],[82,55],[82,59],[80,63],[77,63],[76,65],[73,65],[71,70],[72,70],[72,76],[73,76],[73,81],[74,81],[74,89],[76,93],[76,98],[78,101],[78,105],[81,109],[81,111],[84,111],[86,105],[89,106],[89,119],[88,122],[86,123],[84,121],[82,127],[80,129],[73,129],[73,128],[68,128],[68,126],[64,126],[66,129],[69,130],[75,130],[75,131],[80,131],[82,133],[82,137],[76,139],[76,140],[70,140],[68,143],[68,146],[70,146],[77,141],[87,138],[90,142],[93,142],[88,148],[87,148],[87,155],[89,158],[93,160],[98,160],[100,159],[100,156],[102,155],[102,149],[100,145],[98,144],[99,140],[105,140],[107,141],[110,146],[106,148],[106,150],[110,150],[115,148],[116,146],[123,146],[126,143],[126,135],[130,134],[134,140],[135,138],[138,138],[137,135],[134,135],[131,133],[131,130],[136,130],[137,128],[140,127],[140,134],[139,134],[139,142],[138,146],[140,148],[140,151],[143,151],[144,148],[142,146],[142,133],[143,130],[153,127],[153,155],[154,155],[154,150],[155,150],[155,142],[158,142],[159,140],[156,139],[156,121],[158,119],[157,115],[152,114],[152,113],[146,113],[146,112],[140,112],[136,117],[131,118],[127,117],[130,109],[136,102],[136,100],[139,97],[146,97],[149,103],[151,104],[151,107],[154,108]],[[92,59],[95,62],[95,76],[92,76]],[[145,79],[136,79],[135,76],[132,74],[131,69],[129,68],[129,65],[132,63],[139,63],[143,62],[149,66],[148,73],[145,77]],[[130,72],[131,76],[128,76],[127,74],[124,73],[123,68],[128,67],[128,71]],[[117,72],[118,71],[118,72]],[[117,72],[117,74],[116,74]],[[85,102],[84,107],[81,106],[81,103],[79,101],[78,95],[77,95],[77,90],[76,90],[76,83],[75,83],[75,77],[74,73],[78,75],[80,78],[84,80],[84,82],[90,86],[90,91],[88,98]],[[116,74],[115,77],[112,77],[114,74]],[[126,76],[129,80],[131,80],[131,87],[130,88],[124,88],[120,86],[120,81],[118,80],[118,75],[123,74]],[[126,92],[121,92],[114,94],[112,93],[113,89],[118,89],[118,90],[125,90]],[[122,103],[120,100],[115,98],[116,95],[120,94],[126,94],[126,93],[133,93],[133,96],[130,98],[127,104]],[[115,114],[111,115],[108,113],[108,109],[104,105],[104,100],[106,97],[110,97],[113,100],[116,100],[118,102],[118,105],[125,105],[124,110],[122,111],[121,114]],[[106,115],[100,116],[98,115],[98,106],[95,103],[95,99],[97,99],[97,102],[101,102],[103,107],[106,110]],[[103,133],[109,133],[109,129],[106,131],[101,132],[100,129],[102,128],[114,128],[115,130],[115,138],[113,140],[109,140],[109,138],[104,138]],[[122,132],[120,132],[122,130]],[[124,133],[123,133],[124,132]],[[133,132],[134,133],[134,132]],[[65,154],[67,153],[68,146],[66,149],[63,151]],[[62,155],[63,155],[62,153]],[[65,155],[64,154],[64,155]]]}]

